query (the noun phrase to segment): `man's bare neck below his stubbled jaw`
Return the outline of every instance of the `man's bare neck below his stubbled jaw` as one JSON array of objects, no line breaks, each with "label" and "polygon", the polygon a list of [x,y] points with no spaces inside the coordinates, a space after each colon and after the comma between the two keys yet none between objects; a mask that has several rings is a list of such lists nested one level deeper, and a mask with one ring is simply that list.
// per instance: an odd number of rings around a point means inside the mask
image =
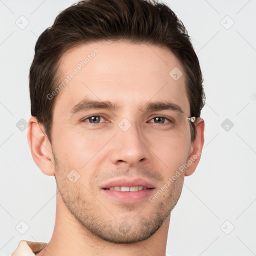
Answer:
[{"label": "man's bare neck below his stubbled jaw", "polygon": [[50,241],[36,256],[165,256],[170,215],[157,231],[134,243],[112,243],[95,236],[69,212],[57,190],[56,218]]}]

